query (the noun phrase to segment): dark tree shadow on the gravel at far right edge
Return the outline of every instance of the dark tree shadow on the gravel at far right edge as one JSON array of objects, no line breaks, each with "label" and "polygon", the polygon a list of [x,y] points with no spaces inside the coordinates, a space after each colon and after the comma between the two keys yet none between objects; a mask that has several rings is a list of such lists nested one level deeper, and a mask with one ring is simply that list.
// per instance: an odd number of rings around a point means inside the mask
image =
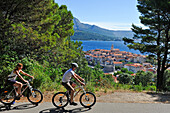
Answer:
[{"label": "dark tree shadow on the gravel at far right edge", "polygon": [[147,94],[151,95],[152,97],[157,97],[157,99],[155,99],[155,102],[170,104],[170,94],[153,93],[153,92],[147,92]]}]

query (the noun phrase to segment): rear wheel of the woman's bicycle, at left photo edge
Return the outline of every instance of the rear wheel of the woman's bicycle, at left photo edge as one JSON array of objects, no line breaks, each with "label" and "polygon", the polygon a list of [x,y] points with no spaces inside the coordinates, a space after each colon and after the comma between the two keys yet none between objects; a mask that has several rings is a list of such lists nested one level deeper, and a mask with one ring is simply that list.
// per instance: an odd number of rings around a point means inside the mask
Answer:
[{"label": "rear wheel of the woman's bicycle, at left photo edge", "polygon": [[6,105],[12,104],[15,101],[15,91],[2,89],[0,92],[0,102]]}]

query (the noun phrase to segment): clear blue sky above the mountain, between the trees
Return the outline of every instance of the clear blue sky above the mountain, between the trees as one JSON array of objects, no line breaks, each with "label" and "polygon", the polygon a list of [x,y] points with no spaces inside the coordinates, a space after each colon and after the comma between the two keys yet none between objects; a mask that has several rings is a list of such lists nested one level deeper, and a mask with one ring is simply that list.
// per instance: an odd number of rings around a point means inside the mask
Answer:
[{"label": "clear blue sky above the mountain, between the trees", "polygon": [[139,20],[137,0],[55,0],[66,5],[82,23],[109,30],[130,30],[132,23],[144,27]]}]

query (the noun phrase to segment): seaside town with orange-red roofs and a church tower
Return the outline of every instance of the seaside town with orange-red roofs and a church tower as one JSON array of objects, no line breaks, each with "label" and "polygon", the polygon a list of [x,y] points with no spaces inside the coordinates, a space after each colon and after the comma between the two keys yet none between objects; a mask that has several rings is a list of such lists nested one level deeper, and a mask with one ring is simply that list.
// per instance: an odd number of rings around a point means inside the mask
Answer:
[{"label": "seaside town with orange-red roofs and a church tower", "polygon": [[155,67],[151,63],[146,63],[146,55],[120,51],[119,49],[114,49],[113,44],[111,50],[95,49],[85,53],[89,66],[99,63],[103,67],[104,73],[113,74],[116,72],[115,67],[127,68],[128,71],[133,73],[140,70],[156,73]]}]

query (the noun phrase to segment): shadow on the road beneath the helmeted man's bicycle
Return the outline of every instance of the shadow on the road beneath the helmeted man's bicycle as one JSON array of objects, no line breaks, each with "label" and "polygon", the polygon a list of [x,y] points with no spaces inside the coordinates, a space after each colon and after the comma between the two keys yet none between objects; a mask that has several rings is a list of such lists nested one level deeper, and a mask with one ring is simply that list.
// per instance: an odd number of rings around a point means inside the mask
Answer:
[{"label": "shadow on the road beneath the helmeted man's bicycle", "polygon": [[51,108],[51,109],[45,109],[40,111],[39,113],[81,113],[81,112],[86,112],[91,110],[91,108],[84,108],[84,107],[80,107],[80,108],[75,108],[75,109],[70,109],[70,110],[66,110],[66,109],[58,109],[58,108]]}]

